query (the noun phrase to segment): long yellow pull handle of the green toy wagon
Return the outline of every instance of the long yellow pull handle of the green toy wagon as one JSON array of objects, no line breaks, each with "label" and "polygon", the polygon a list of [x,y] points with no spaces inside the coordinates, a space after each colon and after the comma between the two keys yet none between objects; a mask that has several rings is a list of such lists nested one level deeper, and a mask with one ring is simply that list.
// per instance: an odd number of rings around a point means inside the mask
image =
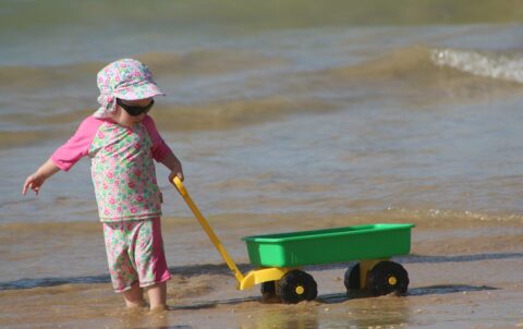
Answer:
[{"label": "long yellow pull handle of the green toy wagon", "polygon": [[242,272],[238,269],[238,266],[232,260],[232,258],[229,256],[229,254],[227,253],[226,251],[226,247],[223,247],[223,245],[221,244],[220,240],[218,239],[218,236],[215,234],[215,232],[212,231],[212,229],[210,228],[209,223],[207,222],[207,220],[205,219],[204,215],[202,215],[202,212],[199,211],[198,207],[196,206],[196,204],[193,202],[193,199],[191,198],[191,196],[188,195],[188,192],[187,190],[185,188],[185,186],[183,185],[182,181],[178,178],[178,176],[174,176],[174,179],[172,180],[172,182],[174,183],[174,185],[177,186],[178,188],[178,192],[180,192],[180,195],[183,197],[183,199],[185,200],[185,203],[187,204],[188,208],[191,208],[191,210],[193,211],[194,216],[196,217],[196,219],[198,220],[199,224],[202,226],[202,228],[205,230],[205,232],[207,233],[207,235],[209,235],[209,239],[210,241],[212,242],[212,244],[215,245],[216,249],[218,251],[218,253],[220,253],[221,257],[223,258],[223,260],[226,260],[227,263],[227,266],[229,266],[229,268],[234,272],[234,276],[236,277],[236,280],[239,282],[239,284],[242,283],[243,281],[243,275]]}]

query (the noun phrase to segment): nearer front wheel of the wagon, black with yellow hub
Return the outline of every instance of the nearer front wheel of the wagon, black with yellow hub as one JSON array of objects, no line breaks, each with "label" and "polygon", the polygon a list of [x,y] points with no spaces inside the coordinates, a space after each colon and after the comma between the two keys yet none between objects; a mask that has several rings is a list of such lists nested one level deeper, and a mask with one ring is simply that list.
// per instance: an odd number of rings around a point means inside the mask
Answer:
[{"label": "nearer front wheel of the wagon, black with yellow hub", "polygon": [[318,295],[318,287],[311,275],[301,270],[292,270],[280,279],[278,295],[285,304],[313,301]]}]

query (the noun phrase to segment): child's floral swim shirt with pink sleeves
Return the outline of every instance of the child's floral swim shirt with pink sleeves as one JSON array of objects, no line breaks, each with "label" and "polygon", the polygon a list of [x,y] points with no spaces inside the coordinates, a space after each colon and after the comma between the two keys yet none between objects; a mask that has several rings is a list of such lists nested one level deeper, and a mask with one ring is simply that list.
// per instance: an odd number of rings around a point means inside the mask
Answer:
[{"label": "child's floral swim shirt with pink sleeves", "polygon": [[132,127],[88,117],[51,160],[69,171],[81,158],[92,159],[98,212],[106,222],[161,216],[153,159],[161,161],[170,153],[148,115]]}]

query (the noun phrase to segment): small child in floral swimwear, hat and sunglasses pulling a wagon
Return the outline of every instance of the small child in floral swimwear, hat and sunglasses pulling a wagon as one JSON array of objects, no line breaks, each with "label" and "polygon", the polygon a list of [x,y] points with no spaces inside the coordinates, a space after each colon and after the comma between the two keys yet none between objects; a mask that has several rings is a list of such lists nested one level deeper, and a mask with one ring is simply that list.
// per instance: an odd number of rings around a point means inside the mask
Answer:
[{"label": "small child in floral swimwear, hat and sunglasses pulling a wagon", "polygon": [[161,193],[153,159],[183,180],[179,159],[147,115],[154,97],[165,95],[143,63],[123,59],[97,75],[100,108],[24,183],[36,194],[60,170],[69,171],[82,157],[92,161],[92,176],[107,259],[114,291],[127,307],[166,308],[166,281],[171,277],[161,237]]}]

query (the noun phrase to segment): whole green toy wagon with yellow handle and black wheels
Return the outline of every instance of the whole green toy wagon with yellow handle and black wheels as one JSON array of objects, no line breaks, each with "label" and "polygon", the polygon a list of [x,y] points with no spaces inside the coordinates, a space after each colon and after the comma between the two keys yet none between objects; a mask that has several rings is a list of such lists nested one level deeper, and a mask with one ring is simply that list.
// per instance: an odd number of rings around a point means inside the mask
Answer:
[{"label": "whole green toy wagon with yellow handle and black wheels", "polygon": [[357,260],[345,272],[348,291],[365,289],[374,295],[405,293],[409,275],[390,257],[406,255],[411,249],[410,223],[377,223],[316,231],[245,236],[251,264],[258,267],[243,275],[196,207],[183,183],[173,180],[178,191],[209,235],[240,290],[262,284],[264,297],[279,297],[294,304],[317,296],[314,278],[303,266]]}]

